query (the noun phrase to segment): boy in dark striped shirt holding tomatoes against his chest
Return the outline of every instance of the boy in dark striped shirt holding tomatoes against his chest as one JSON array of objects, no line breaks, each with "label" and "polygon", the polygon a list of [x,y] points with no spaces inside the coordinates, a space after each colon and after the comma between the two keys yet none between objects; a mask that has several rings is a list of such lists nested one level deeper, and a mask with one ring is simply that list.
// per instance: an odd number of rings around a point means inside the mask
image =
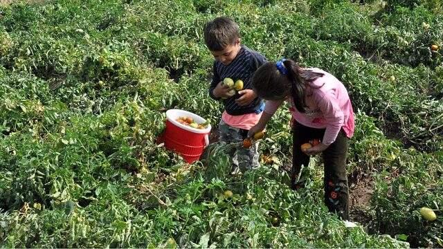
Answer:
[{"label": "boy in dark striped shirt holding tomatoes against his chest", "polygon": [[[251,78],[262,64],[266,63],[263,55],[240,44],[239,27],[228,17],[217,17],[208,21],[204,29],[204,39],[210,53],[215,57],[213,81],[210,84],[210,98],[221,100],[224,113],[219,124],[219,140],[241,144],[247,137],[264,109],[264,102],[252,91]],[[222,81],[230,77],[242,80],[244,88],[231,95],[228,86]],[[230,152],[233,158],[233,172],[237,174],[246,169],[258,167],[258,145],[244,148],[239,145]]]}]

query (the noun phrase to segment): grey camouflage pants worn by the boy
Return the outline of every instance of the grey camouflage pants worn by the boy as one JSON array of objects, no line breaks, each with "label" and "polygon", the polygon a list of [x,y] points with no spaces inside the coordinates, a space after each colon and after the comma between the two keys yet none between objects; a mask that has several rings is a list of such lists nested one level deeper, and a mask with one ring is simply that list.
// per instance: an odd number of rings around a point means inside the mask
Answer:
[{"label": "grey camouflage pants worn by the boy", "polygon": [[231,127],[223,120],[219,124],[219,140],[222,142],[237,143],[238,146],[233,147],[228,152],[233,162],[232,174],[245,172],[247,169],[255,169],[258,163],[258,142],[254,142],[251,148],[244,148],[242,142],[248,136],[248,131]]}]

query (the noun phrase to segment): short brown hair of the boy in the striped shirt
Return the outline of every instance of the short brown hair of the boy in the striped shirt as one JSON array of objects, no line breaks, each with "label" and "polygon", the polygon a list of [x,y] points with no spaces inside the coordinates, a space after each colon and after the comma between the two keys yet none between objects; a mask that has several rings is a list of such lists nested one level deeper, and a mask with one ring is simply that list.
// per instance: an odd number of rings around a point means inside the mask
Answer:
[{"label": "short brown hair of the boy in the striped shirt", "polygon": [[209,50],[224,50],[240,37],[238,24],[228,17],[217,17],[206,23],[204,37]]}]

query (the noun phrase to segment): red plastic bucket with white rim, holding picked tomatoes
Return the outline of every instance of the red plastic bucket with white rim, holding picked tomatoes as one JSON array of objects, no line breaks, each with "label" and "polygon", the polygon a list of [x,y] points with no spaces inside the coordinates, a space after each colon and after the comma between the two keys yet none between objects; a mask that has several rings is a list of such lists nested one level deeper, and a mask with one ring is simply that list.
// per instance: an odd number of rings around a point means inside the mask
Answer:
[{"label": "red plastic bucket with white rim, holding picked tomatoes", "polygon": [[188,163],[199,160],[203,150],[209,145],[210,124],[206,129],[196,129],[177,121],[179,117],[190,117],[197,123],[206,120],[197,114],[179,109],[166,111],[165,147],[180,154]]}]

